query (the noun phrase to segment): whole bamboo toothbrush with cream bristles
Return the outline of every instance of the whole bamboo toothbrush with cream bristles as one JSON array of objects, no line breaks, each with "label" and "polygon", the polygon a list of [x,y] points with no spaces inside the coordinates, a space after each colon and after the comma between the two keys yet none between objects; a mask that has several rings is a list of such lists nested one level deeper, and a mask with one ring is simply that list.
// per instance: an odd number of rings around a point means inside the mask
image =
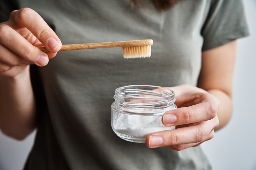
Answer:
[{"label": "whole bamboo toothbrush with cream bristles", "polygon": [[[62,45],[60,51],[122,47],[124,58],[139,58],[139,57],[151,56],[152,44],[153,44],[152,39],[116,41],[116,42],[107,42],[107,43],[71,44],[71,45]],[[43,52],[48,52],[48,50],[45,47],[38,47],[38,48]]]}]

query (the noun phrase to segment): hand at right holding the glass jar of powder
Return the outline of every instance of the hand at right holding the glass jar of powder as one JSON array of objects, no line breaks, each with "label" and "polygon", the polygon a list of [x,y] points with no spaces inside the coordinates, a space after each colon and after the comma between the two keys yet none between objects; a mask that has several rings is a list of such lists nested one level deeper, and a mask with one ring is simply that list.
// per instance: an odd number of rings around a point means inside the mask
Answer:
[{"label": "hand at right holding the glass jar of powder", "polygon": [[219,101],[207,91],[190,86],[170,87],[175,92],[177,109],[166,112],[162,123],[175,130],[151,133],[146,138],[149,148],[167,147],[177,151],[199,146],[212,139],[219,125]]}]

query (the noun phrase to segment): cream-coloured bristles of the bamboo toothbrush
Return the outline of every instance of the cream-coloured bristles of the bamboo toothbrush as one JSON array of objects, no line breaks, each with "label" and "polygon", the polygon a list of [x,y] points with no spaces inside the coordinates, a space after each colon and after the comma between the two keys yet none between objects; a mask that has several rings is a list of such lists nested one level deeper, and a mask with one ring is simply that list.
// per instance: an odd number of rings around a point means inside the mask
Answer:
[{"label": "cream-coloured bristles of the bamboo toothbrush", "polygon": [[151,56],[151,45],[123,47],[124,58],[141,58]]}]

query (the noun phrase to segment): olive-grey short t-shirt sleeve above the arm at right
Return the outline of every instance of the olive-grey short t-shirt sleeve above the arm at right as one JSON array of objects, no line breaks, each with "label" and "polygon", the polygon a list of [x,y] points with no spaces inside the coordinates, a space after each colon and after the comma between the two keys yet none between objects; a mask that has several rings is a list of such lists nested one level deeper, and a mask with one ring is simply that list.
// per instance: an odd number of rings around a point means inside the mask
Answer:
[{"label": "olive-grey short t-shirt sleeve above the arm at right", "polygon": [[202,51],[249,35],[242,0],[212,0],[201,35]]}]

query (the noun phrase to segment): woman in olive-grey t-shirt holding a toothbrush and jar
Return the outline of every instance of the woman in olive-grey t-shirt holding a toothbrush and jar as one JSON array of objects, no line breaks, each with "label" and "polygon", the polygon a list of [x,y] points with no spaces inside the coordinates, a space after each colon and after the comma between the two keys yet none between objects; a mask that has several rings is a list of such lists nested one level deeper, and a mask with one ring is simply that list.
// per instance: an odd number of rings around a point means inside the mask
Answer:
[{"label": "woman in olive-grey t-shirt holding a toothbrush and jar", "polygon": [[[232,113],[236,39],[248,34],[241,1],[183,0],[167,11],[128,0],[1,3],[0,128],[16,139],[38,128],[25,169],[211,169],[196,146]],[[135,39],[154,40],[150,58],[124,60],[118,48],[58,52]],[[132,84],[173,89],[178,109],[162,122],[177,129],[148,135],[146,146],[118,138],[114,90]]]}]

